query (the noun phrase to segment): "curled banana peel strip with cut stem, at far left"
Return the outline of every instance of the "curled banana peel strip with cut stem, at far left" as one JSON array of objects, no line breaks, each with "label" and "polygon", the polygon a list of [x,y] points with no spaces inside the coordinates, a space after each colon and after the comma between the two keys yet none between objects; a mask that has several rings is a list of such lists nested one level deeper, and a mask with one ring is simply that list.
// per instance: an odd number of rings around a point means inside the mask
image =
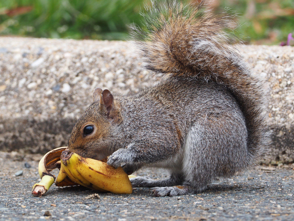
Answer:
[{"label": "curled banana peel strip with cut stem, at far left", "polygon": [[38,171],[41,182],[34,184],[32,194],[34,196],[44,195],[49,187],[54,183],[55,177],[50,173],[57,168],[56,162],[60,161],[60,155],[67,147],[59,147],[45,154],[39,162]]}]

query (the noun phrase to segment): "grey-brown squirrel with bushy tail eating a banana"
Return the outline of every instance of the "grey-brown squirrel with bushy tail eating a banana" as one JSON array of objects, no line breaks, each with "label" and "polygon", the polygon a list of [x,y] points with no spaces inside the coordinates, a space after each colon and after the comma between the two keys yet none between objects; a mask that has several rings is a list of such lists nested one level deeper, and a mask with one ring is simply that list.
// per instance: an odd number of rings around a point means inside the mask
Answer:
[{"label": "grey-brown squirrel with bushy tail eating a banana", "polygon": [[130,179],[133,187],[153,187],[154,196],[203,192],[213,179],[257,164],[270,142],[268,89],[224,31],[229,19],[177,1],[153,3],[144,19],[144,29],[132,29],[137,58],[160,82],[115,96],[96,88],[69,150],[97,160],[109,156],[107,164],[127,174],[170,170],[168,179]]}]

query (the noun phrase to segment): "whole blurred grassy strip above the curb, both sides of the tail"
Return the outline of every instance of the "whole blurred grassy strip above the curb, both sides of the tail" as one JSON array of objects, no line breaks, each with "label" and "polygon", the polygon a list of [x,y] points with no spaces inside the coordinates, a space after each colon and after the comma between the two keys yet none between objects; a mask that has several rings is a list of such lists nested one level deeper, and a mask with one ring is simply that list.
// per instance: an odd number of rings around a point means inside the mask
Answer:
[{"label": "whole blurred grassy strip above the curb, both sides of the tail", "polygon": [[[208,2],[215,13],[239,14],[235,34],[247,43],[279,44],[294,32],[294,0]],[[141,24],[144,3],[150,0],[0,0],[0,35],[125,40],[128,25]]]}]

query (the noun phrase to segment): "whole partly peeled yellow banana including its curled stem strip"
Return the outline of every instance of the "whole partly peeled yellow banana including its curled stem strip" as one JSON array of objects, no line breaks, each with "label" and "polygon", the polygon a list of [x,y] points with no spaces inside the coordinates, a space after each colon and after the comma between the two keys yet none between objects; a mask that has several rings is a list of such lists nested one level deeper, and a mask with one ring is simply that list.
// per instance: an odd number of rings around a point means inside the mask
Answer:
[{"label": "whole partly peeled yellow banana including its curled stem strip", "polygon": [[[114,169],[106,164],[106,159],[84,158],[66,148],[56,148],[43,156],[38,168],[41,182],[34,184],[34,196],[45,194],[54,181],[59,187],[82,185],[101,192],[132,193],[129,177],[121,167]],[[55,168],[60,170],[56,179],[50,173]]]}]

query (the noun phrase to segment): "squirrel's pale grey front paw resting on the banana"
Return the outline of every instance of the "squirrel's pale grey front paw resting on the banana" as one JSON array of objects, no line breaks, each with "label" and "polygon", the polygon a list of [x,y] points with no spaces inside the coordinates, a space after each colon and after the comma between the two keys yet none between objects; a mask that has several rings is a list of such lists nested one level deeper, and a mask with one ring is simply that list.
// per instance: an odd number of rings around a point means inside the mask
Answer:
[{"label": "squirrel's pale grey front paw resting on the banana", "polygon": [[111,154],[107,159],[107,164],[113,166],[115,169],[119,166],[130,164],[131,157],[127,149],[118,149]]}]

